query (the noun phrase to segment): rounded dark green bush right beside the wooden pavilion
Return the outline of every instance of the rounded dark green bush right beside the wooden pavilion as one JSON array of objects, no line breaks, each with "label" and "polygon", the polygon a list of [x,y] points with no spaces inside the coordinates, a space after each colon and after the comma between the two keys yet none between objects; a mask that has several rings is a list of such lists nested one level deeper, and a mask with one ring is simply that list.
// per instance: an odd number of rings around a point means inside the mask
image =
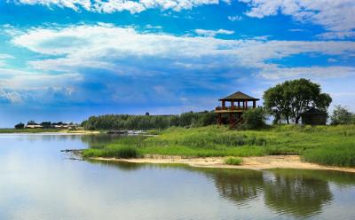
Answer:
[{"label": "rounded dark green bush right beside the wooden pavilion", "polygon": [[248,130],[262,129],[266,126],[266,114],[261,107],[249,109],[243,114],[243,128]]}]

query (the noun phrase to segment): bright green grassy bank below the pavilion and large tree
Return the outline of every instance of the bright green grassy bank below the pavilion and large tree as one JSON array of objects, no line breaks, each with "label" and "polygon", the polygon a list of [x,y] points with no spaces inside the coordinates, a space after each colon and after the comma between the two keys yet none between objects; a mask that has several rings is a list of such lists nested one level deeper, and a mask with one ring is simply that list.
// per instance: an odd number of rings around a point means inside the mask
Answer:
[{"label": "bright green grassy bank below the pavilion and large tree", "polygon": [[111,144],[88,149],[83,156],[127,158],[119,153],[122,148],[134,151],[131,157],[146,153],[185,157],[296,153],[304,161],[355,167],[355,126],[284,125],[267,130],[228,130],[217,126],[170,128],[156,137],[120,138]]}]

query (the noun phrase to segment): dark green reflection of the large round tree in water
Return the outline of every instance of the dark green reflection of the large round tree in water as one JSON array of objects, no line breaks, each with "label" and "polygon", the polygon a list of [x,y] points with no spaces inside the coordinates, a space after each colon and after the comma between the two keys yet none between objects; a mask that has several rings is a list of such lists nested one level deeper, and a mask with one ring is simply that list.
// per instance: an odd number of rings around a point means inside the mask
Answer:
[{"label": "dark green reflection of the large round tree in water", "polygon": [[[314,172],[314,170],[313,170]],[[327,181],[302,169],[276,169],[264,175],[266,206],[296,217],[316,215],[333,198]]]}]

